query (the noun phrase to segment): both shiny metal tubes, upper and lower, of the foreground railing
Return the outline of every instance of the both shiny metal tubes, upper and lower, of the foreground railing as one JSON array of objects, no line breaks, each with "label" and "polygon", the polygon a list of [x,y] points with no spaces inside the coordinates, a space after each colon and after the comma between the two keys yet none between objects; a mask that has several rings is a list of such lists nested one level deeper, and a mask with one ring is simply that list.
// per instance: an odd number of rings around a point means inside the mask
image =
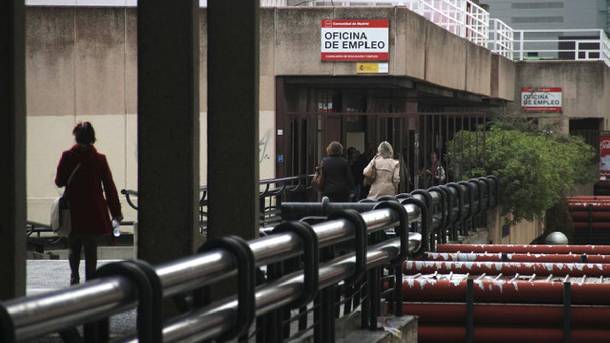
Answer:
[{"label": "both shiny metal tubes, upper and lower, of the foreground railing", "polygon": [[[472,185],[476,187],[476,184]],[[421,193],[421,192],[420,192]],[[432,193],[432,192],[430,192]],[[474,192],[479,193],[479,192]],[[414,197],[418,197],[415,194]],[[439,193],[429,197],[432,206],[442,200]],[[408,200],[408,198],[406,199]],[[479,199],[477,199],[479,200]],[[392,202],[393,200],[390,200]],[[474,205],[474,204],[472,204]],[[393,205],[396,206],[396,205]],[[408,203],[399,206],[406,218],[422,218],[423,209]],[[477,207],[478,208],[478,207]],[[401,214],[397,209],[380,208],[357,214],[362,220],[362,229],[371,234],[400,225]],[[427,217],[427,215],[426,215]],[[311,225],[312,233],[320,249],[347,242],[358,237],[357,223],[348,218],[326,220]],[[361,236],[362,237],[362,236]],[[408,251],[419,251],[426,240],[418,233],[409,233],[406,241]],[[304,240],[294,232],[271,233],[268,236],[247,242],[253,256],[253,267],[261,267],[304,253]],[[401,250],[399,238],[389,239],[367,247],[364,252],[365,268],[371,269],[393,261]],[[357,250],[356,250],[357,253]],[[320,264],[318,287],[336,284],[353,275],[358,258],[347,253]],[[121,262],[117,262],[121,263]],[[157,265],[152,273],[160,283],[162,297],[173,297],[237,275],[240,262],[235,255],[223,248],[188,256]],[[241,275],[239,277],[242,277]],[[284,275],[256,288],[256,316],[289,304],[303,293],[304,272]],[[26,341],[45,334],[68,330],[81,323],[92,322],[126,311],[137,305],[138,291],[126,276],[106,276],[58,291],[32,297],[17,298],[0,303],[0,338],[2,334],[13,334],[14,341]],[[164,342],[177,342],[188,334],[190,339],[216,338],[234,325],[238,312],[235,298],[212,303],[205,308],[190,312],[186,316],[168,322],[163,328]],[[3,316],[4,314],[4,316]],[[2,320],[8,317],[10,320]],[[193,327],[193,323],[201,326]],[[5,325],[6,327],[2,327]],[[188,330],[184,330],[188,328]],[[4,336],[4,338],[10,336]],[[134,338],[126,338],[134,342]],[[1,340],[1,339],[0,339]],[[11,341],[11,339],[7,339]]]}]

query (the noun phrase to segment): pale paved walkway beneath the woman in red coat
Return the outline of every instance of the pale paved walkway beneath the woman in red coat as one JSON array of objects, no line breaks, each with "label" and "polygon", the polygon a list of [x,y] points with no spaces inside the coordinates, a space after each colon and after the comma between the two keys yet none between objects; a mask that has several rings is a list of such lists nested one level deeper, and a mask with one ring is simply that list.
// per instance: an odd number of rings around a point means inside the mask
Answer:
[{"label": "pale paved walkway beneath the woman in red coat", "polygon": [[[118,260],[100,260],[98,267],[108,262]],[[85,278],[85,261],[81,261],[81,280]],[[82,282],[82,281],[81,281]],[[65,259],[59,260],[27,260],[27,295],[38,295],[69,287],[70,266]],[[110,317],[110,333],[123,335],[135,333],[135,309]],[[62,342],[58,334],[51,334],[45,338],[36,339],[36,343]]]}]

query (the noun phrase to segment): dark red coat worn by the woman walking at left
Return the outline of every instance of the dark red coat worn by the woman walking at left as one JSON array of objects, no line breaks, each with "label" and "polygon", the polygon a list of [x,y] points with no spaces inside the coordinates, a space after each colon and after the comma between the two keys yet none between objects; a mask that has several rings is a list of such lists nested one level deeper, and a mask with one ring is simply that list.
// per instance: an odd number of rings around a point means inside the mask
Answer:
[{"label": "dark red coat worn by the woman walking at left", "polygon": [[[66,186],[70,174],[79,162],[81,167],[74,173],[66,192],[70,203],[72,233],[110,234],[112,225],[108,210],[110,209],[112,218],[123,215],[106,156],[98,154],[92,145],[85,150],[74,145],[62,154],[57,165],[55,184],[58,187]],[[102,185],[106,199],[102,195]]]}]

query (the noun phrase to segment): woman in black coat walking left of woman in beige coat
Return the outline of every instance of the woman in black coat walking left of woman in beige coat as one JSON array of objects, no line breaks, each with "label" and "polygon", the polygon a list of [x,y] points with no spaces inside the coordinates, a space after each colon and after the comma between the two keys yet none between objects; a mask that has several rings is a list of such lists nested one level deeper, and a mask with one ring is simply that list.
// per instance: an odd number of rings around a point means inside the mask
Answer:
[{"label": "woman in black coat walking left of woman in beige coat", "polygon": [[336,141],[326,148],[325,157],[321,162],[324,175],[322,195],[334,203],[348,203],[355,195],[354,176],[350,163],[343,157],[343,146]]}]

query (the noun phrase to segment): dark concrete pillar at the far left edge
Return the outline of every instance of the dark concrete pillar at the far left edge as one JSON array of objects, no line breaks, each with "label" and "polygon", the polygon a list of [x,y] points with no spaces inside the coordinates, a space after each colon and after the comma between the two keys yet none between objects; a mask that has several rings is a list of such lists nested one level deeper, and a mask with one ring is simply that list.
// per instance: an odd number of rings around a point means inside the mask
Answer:
[{"label": "dark concrete pillar at the far left edge", "polygon": [[26,294],[25,5],[0,2],[0,300]]}]

